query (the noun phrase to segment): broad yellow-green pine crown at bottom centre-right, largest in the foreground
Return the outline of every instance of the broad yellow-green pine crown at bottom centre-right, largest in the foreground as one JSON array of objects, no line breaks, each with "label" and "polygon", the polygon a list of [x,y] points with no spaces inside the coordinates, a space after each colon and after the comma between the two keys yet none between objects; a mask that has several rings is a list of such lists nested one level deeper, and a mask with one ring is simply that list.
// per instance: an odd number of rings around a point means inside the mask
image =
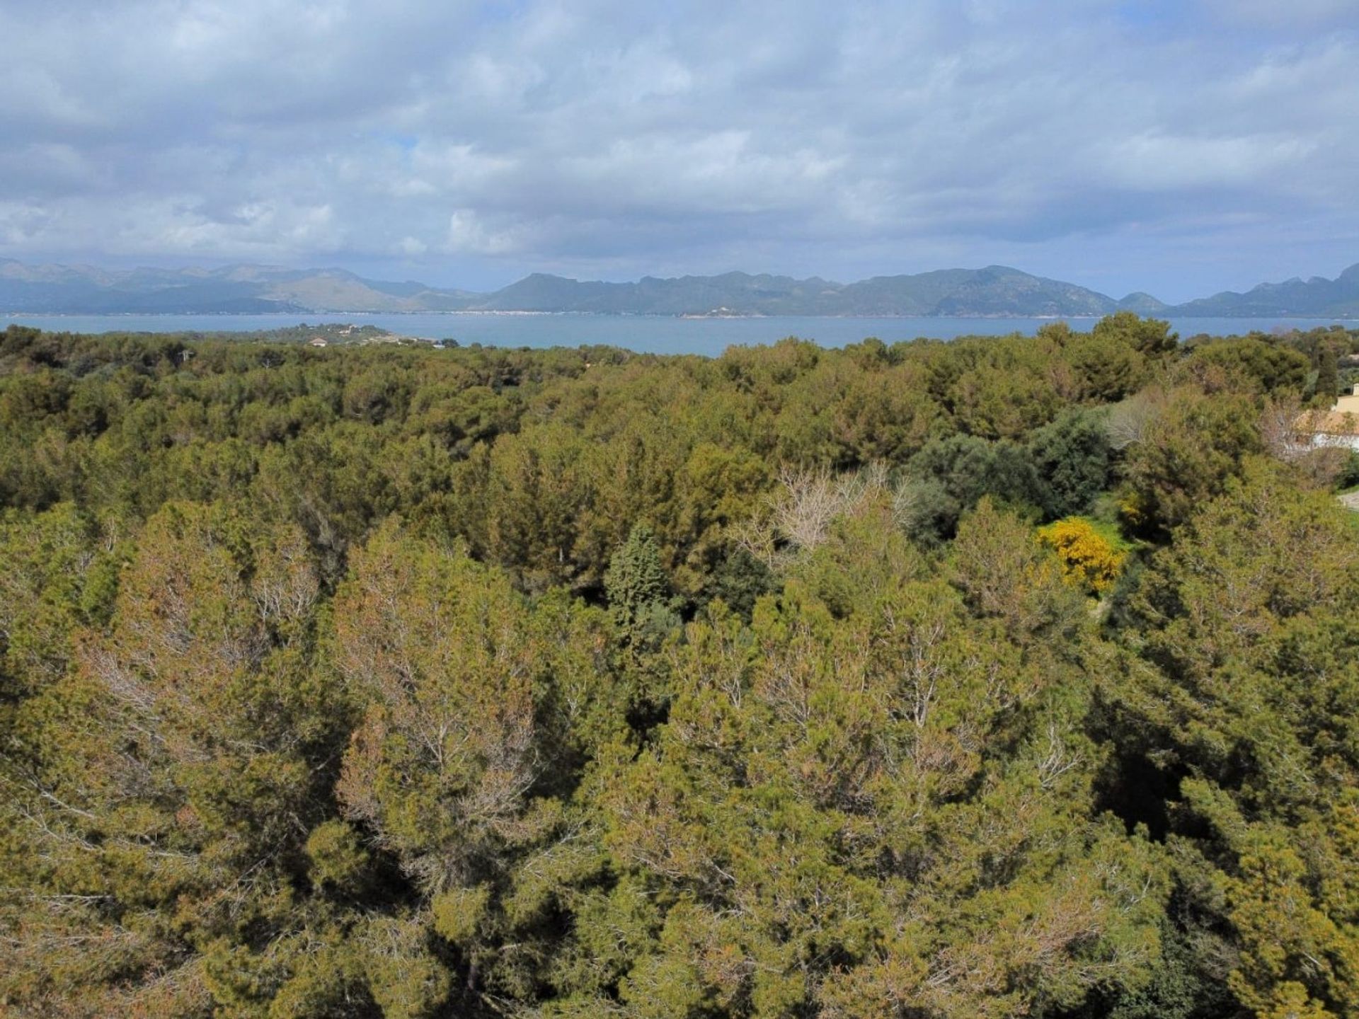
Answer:
[{"label": "broad yellow-green pine crown at bottom centre-right, largest in the foreground", "polygon": [[[871,546],[841,554],[879,575]],[[607,793],[613,852],[680,893],[624,1001],[999,1015],[1137,984],[1157,906],[1132,897],[1154,853],[1076,819],[1078,689],[938,580],[848,606],[837,620],[790,584],[750,630],[720,614],[690,626],[669,723]],[[992,757],[1002,746],[1025,749]],[[1004,834],[978,837],[993,825]],[[998,842],[1011,849],[995,871]],[[1129,870],[1109,883],[1114,844]],[[1055,874],[1064,893],[1044,901]],[[954,965],[957,980],[928,980]]]}]

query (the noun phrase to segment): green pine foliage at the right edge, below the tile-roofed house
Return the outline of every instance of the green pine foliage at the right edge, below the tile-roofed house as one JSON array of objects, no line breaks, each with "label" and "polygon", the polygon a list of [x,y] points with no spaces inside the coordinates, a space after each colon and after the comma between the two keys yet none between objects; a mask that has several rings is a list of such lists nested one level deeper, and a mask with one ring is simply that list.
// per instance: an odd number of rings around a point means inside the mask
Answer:
[{"label": "green pine foliage at the right edge, below the tile-roofed house", "polygon": [[1252,462],[1154,557],[1135,601],[1148,664],[1118,697],[1142,753],[1180,776],[1171,817],[1203,859],[1185,880],[1207,868],[1190,887],[1231,931],[1230,986],[1257,1015],[1356,1001],[1341,863],[1359,845],[1356,557],[1344,510]]}]

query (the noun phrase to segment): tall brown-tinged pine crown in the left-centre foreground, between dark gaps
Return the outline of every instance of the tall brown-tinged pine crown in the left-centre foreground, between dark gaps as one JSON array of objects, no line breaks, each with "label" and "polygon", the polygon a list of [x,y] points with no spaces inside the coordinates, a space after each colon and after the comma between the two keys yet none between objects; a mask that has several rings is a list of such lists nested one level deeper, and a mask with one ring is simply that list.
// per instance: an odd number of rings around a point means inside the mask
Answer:
[{"label": "tall brown-tinged pine crown in the left-centre foreground, between dark gaps", "polygon": [[337,787],[428,893],[493,865],[542,766],[534,648],[510,584],[393,524],[336,592],[332,662],[364,717]]}]

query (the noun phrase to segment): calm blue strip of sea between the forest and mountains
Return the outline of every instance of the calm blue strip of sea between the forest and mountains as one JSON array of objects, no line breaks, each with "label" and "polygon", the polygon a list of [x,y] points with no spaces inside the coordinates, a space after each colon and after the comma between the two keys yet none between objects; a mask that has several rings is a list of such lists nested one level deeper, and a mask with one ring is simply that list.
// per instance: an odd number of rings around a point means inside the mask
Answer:
[{"label": "calm blue strip of sea between the forest and mountains", "polygon": [[[932,337],[1031,334],[1052,319],[1040,318],[665,318],[650,315],[0,315],[8,322],[71,333],[253,332],[302,322],[374,325],[400,336],[457,340],[488,346],[580,346],[607,344],[643,353],[720,355],[727,346],[772,344],[786,336],[844,346],[875,336],[883,342]],[[1094,318],[1071,318],[1072,329],[1089,330]],[[1180,336],[1227,336],[1253,329],[1313,329],[1326,319],[1303,318],[1182,318],[1171,319]]]}]

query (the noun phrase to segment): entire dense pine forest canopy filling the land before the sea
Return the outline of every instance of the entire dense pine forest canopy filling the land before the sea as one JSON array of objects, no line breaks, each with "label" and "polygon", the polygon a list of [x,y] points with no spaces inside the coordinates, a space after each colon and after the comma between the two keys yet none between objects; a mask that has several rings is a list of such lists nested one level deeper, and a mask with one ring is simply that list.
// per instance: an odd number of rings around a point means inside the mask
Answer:
[{"label": "entire dense pine forest canopy filling the land before the sea", "polygon": [[0,334],[0,1012],[1359,1015],[1340,329]]}]

